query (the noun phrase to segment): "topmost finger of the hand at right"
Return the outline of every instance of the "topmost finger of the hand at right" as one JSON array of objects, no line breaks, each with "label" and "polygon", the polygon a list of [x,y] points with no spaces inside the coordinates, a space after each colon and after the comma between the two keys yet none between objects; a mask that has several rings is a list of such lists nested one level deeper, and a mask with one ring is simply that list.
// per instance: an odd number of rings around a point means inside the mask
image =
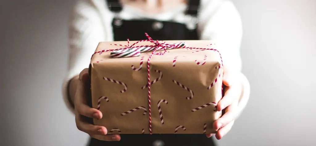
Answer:
[{"label": "topmost finger of the hand at right", "polygon": [[217,111],[225,109],[228,105],[233,104],[239,99],[241,87],[239,84],[234,84],[227,87],[224,97],[217,104]]}]

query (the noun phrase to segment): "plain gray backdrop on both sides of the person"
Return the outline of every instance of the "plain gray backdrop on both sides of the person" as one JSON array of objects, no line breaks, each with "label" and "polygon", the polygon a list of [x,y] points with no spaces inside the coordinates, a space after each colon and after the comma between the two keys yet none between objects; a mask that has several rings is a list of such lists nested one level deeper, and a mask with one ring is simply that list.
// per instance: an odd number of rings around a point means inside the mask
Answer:
[{"label": "plain gray backdrop on both sides of the person", "polygon": [[[83,146],[61,97],[67,23],[76,0],[1,0],[3,146]],[[243,20],[245,111],[219,146],[312,146],[316,0],[234,0]]]}]

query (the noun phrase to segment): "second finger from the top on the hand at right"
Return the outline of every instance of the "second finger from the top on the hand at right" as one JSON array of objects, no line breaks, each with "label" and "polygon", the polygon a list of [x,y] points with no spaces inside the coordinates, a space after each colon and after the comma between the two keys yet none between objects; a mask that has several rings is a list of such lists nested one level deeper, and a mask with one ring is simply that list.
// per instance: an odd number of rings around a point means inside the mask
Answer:
[{"label": "second finger from the top on the hand at right", "polygon": [[213,129],[218,130],[226,126],[231,121],[233,121],[236,117],[236,111],[237,111],[236,104],[229,105],[225,111],[225,114],[219,119],[217,119],[216,121],[214,121]]}]

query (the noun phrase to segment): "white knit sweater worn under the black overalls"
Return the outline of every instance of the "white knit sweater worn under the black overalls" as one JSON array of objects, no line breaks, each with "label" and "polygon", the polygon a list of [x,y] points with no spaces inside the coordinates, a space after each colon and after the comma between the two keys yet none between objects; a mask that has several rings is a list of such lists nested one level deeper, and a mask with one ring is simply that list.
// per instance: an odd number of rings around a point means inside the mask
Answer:
[{"label": "white knit sweater worn under the black overalls", "polygon": [[[190,17],[184,14],[186,7],[186,5],[179,5],[169,12],[152,16],[126,6],[117,16],[124,20],[151,18],[192,26]],[[84,68],[88,68],[91,55],[99,42],[113,41],[112,20],[114,15],[107,8],[105,0],[79,0],[72,11],[69,28],[70,60],[63,84],[64,101],[71,111],[74,110],[67,100],[67,84]],[[220,48],[217,49],[222,54],[224,66],[240,72],[242,26],[240,15],[234,4],[228,0],[201,0],[197,22],[200,39],[214,40],[216,46]],[[250,87],[246,77],[241,73],[240,78],[244,85],[239,103],[239,109],[242,110],[248,101]]]}]

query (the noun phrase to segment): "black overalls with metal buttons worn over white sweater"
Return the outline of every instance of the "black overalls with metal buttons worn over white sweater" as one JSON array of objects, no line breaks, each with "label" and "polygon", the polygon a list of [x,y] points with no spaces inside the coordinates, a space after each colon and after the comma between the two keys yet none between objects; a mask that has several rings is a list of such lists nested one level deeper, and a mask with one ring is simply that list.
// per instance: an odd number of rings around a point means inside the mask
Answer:
[{"label": "black overalls with metal buttons worn over white sweater", "polygon": [[[108,0],[112,11],[120,11],[118,0]],[[199,0],[189,1],[187,14],[196,15]],[[113,5],[117,7],[113,7]],[[193,10],[192,10],[193,9]],[[194,10],[195,9],[195,10]],[[118,20],[112,22],[114,41],[145,40],[145,32],[153,40],[198,40],[197,31],[187,29],[186,25],[175,22],[155,20]],[[205,134],[121,134],[120,141],[100,141],[92,138],[89,146],[214,146],[212,138]]]}]

